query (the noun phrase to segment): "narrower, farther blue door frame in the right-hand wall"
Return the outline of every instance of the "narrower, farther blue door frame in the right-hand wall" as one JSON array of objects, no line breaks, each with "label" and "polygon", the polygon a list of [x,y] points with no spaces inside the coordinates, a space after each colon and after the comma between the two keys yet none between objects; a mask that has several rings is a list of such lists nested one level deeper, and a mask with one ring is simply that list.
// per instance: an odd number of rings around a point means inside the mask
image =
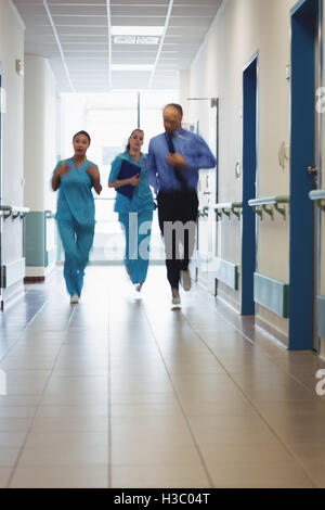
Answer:
[{"label": "narrower, farther blue door frame in the right-hand wall", "polygon": [[256,215],[248,201],[256,196],[258,127],[258,54],[243,74],[243,220],[242,220],[242,315],[255,315]]}]

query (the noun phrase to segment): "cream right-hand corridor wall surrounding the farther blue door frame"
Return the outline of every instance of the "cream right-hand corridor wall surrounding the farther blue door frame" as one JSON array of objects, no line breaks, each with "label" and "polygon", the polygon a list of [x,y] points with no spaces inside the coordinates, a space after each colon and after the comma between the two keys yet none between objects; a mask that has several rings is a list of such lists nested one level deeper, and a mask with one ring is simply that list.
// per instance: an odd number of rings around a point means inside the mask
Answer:
[{"label": "cream right-hand corridor wall surrounding the farther blue door frame", "polygon": [[[191,95],[219,98],[219,202],[240,202],[243,153],[243,71],[258,52],[258,176],[256,196],[289,194],[289,162],[280,165],[280,146],[289,144],[290,8],[295,0],[224,0],[191,67]],[[209,138],[207,113],[190,104],[190,122],[199,120]],[[255,199],[255,196],[251,196]],[[257,272],[287,284],[289,280],[288,207],[286,217],[257,219]],[[240,222],[218,222],[216,256],[240,271]],[[219,283],[218,294],[238,311],[240,288]],[[257,323],[287,344],[288,320],[261,305]]]}]

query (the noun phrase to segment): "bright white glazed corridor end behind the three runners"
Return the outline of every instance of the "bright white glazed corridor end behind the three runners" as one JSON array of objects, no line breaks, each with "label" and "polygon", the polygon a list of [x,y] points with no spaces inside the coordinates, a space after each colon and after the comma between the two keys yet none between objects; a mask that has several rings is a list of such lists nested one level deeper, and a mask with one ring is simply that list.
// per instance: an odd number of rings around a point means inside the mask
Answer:
[{"label": "bright white glazed corridor end behind the three runners", "polygon": [[[70,140],[79,126],[90,132],[88,151],[99,165],[103,191],[95,196],[95,235],[90,264],[122,265],[125,235],[114,213],[116,192],[108,189],[110,164],[126,150],[130,132],[144,130],[143,153],[150,139],[164,131],[162,107],[177,100],[174,90],[112,91],[107,94],[62,94],[62,155],[70,152]],[[151,264],[165,264],[165,247],[157,215],[154,215],[151,238]]]}]

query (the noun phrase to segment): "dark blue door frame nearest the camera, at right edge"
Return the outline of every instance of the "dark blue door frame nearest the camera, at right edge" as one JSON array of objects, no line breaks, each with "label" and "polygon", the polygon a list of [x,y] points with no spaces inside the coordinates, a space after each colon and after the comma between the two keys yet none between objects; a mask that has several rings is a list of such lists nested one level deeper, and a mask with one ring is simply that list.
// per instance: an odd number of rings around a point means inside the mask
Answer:
[{"label": "dark blue door frame nearest the camera, at right edge", "polygon": [[313,348],[314,206],[309,199],[315,148],[315,37],[318,0],[291,9],[289,342]]}]

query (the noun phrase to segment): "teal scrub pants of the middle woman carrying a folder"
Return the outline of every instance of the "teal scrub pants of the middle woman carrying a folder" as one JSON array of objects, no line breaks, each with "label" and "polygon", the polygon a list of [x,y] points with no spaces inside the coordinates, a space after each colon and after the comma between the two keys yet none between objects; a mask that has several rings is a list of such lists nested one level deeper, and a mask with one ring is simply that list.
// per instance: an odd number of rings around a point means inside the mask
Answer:
[{"label": "teal scrub pants of the middle woman carrying a folder", "polygon": [[150,263],[153,213],[119,214],[118,219],[126,235],[126,269],[132,283],[144,282]]}]

